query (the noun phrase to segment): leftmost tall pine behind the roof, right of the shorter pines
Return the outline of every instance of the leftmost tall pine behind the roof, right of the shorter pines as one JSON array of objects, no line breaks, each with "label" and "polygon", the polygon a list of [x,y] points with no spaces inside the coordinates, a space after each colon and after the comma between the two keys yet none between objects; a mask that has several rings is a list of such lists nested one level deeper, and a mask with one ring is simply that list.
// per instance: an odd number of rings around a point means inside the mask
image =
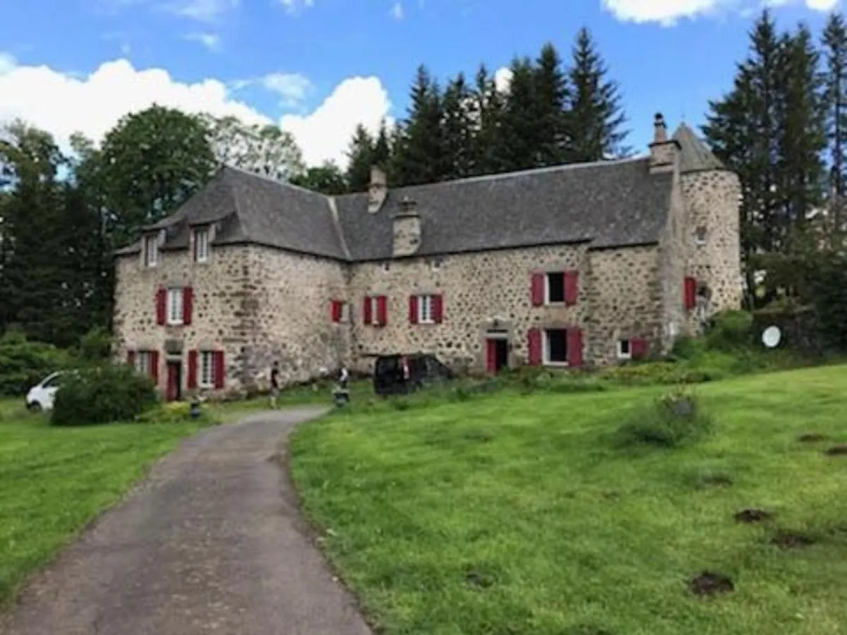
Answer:
[{"label": "leftmost tall pine behind the roof, right of the shorter pines", "polygon": [[418,67],[411,93],[407,119],[395,148],[395,185],[435,183],[449,174],[441,129],[441,91],[424,65]]}]

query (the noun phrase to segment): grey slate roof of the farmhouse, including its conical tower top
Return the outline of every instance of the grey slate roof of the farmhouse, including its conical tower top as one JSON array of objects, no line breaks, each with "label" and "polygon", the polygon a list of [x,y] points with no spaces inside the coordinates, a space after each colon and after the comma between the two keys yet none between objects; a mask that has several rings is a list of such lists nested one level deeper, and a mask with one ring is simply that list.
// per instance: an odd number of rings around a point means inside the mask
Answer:
[{"label": "grey slate roof of the farmhouse, including its conical tower top", "polygon": [[[688,126],[674,134],[684,171],[722,168]],[[510,247],[655,243],[670,209],[672,174],[650,174],[649,157],[554,166],[390,189],[368,213],[368,195],[334,198],[221,168],[185,205],[148,229],[165,229],[163,250],[185,249],[191,225],[217,223],[213,245],[253,243],[346,262],[391,257],[392,225],[409,197],[422,238],[416,256]],[[119,254],[138,253],[141,241]]]}]

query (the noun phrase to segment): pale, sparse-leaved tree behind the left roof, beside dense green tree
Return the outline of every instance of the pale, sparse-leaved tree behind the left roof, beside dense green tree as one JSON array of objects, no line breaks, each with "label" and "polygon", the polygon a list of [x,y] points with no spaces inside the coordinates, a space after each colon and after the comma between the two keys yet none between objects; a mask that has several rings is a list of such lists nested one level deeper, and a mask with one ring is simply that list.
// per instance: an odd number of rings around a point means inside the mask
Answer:
[{"label": "pale, sparse-leaved tree behind the left roof, beside dense green tree", "polygon": [[302,152],[290,132],[274,124],[245,124],[231,115],[204,115],[203,120],[219,163],[283,181],[305,171]]}]

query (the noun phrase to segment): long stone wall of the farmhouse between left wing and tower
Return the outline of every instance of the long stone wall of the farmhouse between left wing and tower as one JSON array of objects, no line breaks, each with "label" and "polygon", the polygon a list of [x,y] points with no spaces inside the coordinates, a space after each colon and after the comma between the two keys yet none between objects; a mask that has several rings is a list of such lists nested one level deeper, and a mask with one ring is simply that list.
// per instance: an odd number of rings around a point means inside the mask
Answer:
[{"label": "long stone wall of the farmhouse between left wing and tower", "polygon": [[[452,367],[481,370],[484,333],[492,327],[507,330],[510,365],[517,366],[527,361],[528,331],[534,326],[579,326],[585,362],[611,362],[618,336],[649,336],[656,329],[656,253],[656,247],[551,246],[403,259],[387,268],[356,265],[350,286],[355,367],[369,372],[375,355],[421,351]],[[531,273],[566,269],[579,270],[577,305],[532,306]],[[409,295],[430,293],[444,297],[443,323],[410,323]],[[362,324],[366,295],[387,296],[385,327]]]}]

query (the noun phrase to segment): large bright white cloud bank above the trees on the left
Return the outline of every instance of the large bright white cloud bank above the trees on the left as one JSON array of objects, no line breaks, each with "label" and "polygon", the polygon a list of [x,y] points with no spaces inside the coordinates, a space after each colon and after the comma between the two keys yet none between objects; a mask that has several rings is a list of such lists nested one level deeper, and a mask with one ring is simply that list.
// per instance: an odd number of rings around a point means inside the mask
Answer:
[{"label": "large bright white cloud bank above the trees on the left", "polygon": [[[185,112],[231,114],[247,123],[273,119],[237,99],[220,80],[182,83],[164,69],[135,69],[126,59],[101,64],[91,75],[71,76],[47,66],[10,65],[0,53],[0,122],[21,118],[66,146],[79,130],[99,141],[121,116],[156,102]],[[5,62],[3,62],[5,60]],[[346,164],[346,147],[358,123],[379,129],[390,101],[376,77],[343,80],[311,114],[285,115],[277,123],[291,131],[309,164],[332,159]]]}]

